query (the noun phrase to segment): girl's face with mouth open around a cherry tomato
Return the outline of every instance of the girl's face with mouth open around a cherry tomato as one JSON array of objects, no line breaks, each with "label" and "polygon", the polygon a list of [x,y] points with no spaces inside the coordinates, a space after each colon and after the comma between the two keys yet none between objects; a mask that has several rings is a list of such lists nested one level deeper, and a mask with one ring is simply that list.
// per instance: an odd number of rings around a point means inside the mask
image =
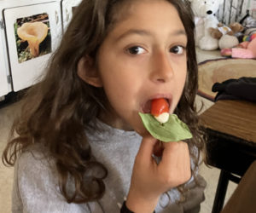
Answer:
[{"label": "girl's face with mouth open around a cherry tomato", "polygon": [[166,98],[170,113],[177,107],[187,73],[187,37],[177,10],[165,0],[133,1],[120,13],[98,52],[97,71],[110,104],[102,119],[146,135],[138,112],[150,112],[151,100]]}]

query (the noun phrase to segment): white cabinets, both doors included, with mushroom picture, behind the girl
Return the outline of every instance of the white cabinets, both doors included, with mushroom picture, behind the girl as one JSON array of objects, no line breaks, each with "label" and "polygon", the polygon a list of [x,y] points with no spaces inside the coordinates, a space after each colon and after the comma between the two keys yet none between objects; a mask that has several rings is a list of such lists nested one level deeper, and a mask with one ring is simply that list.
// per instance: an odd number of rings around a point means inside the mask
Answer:
[{"label": "white cabinets, both doors included, with mushroom picture, behind the girl", "polygon": [[82,0],[0,0],[0,100],[44,76]]}]

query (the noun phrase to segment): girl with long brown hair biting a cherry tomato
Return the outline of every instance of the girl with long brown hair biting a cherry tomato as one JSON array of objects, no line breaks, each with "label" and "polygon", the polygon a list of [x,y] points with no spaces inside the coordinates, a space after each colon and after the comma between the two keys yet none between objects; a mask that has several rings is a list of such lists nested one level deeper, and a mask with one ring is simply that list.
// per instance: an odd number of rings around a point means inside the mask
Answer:
[{"label": "girl with long brown hair biting a cherry tomato", "polygon": [[[84,0],[3,153],[16,162],[13,212],[113,213],[122,203],[121,212],[199,212],[196,89],[188,3]],[[162,144],[148,135],[138,112],[156,98],[193,139]]]}]

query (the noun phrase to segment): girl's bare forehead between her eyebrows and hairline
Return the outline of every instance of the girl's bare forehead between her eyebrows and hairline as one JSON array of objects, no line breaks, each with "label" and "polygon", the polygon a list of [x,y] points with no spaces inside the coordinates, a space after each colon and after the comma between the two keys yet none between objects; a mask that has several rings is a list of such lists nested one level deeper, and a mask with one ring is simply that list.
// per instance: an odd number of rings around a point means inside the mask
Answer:
[{"label": "girl's bare forehead between her eyebrows and hairline", "polygon": [[113,15],[112,30],[127,28],[151,28],[161,31],[184,29],[177,9],[166,0],[131,0],[119,5]]}]

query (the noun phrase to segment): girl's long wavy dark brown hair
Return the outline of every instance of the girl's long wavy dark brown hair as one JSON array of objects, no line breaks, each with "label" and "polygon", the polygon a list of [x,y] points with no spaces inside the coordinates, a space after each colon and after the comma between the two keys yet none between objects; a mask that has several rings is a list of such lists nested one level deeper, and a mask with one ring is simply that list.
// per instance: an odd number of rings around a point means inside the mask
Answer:
[{"label": "girl's long wavy dark brown hair", "polygon": [[[176,113],[194,135],[188,141],[190,149],[195,146],[200,151],[203,140],[194,106],[197,63],[193,14],[186,1],[168,2],[177,9],[188,37],[188,78]],[[79,4],[59,48],[49,61],[43,80],[29,89],[23,99],[20,118],[13,124],[12,137],[3,152],[3,164],[14,165],[26,148],[42,144],[55,158],[61,193],[67,202],[101,199],[105,192],[103,179],[108,171],[91,156],[84,130],[94,128],[92,124],[104,110],[107,97],[103,89],[90,86],[79,78],[77,66],[84,55],[96,60],[97,49],[118,21],[116,11],[123,3],[131,3],[131,0],[84,0]],[[190,153],[198,166],[195,153]],[[102,176],[87,175],[84,181],[84,174],[95,167],[102,169]],[[70,177],[75,183],[72,194],[67,193]]]}]

